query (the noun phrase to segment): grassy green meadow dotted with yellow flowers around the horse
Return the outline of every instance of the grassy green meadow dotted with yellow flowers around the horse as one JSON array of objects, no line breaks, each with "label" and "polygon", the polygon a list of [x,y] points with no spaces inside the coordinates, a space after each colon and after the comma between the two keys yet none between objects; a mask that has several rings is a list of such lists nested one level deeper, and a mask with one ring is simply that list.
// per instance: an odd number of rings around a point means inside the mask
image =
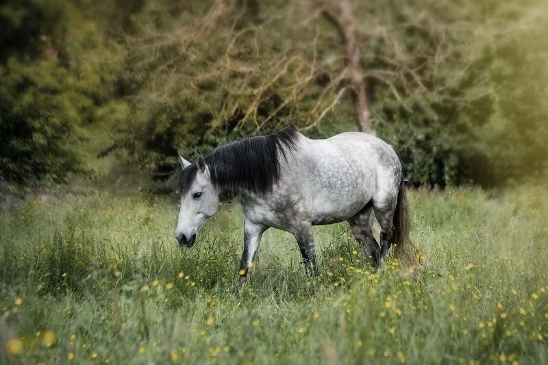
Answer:
[{"label": "grassy green meadow dotted with yellow flowers around the horse", "polygon": [[190,250],[175,196],[59,188],[0,210],[0,363],[548,363],[546,186],[409,193],[423,279],[373,273],[346,224],[321,275],[265,234],[238,292],[242,214]]}]

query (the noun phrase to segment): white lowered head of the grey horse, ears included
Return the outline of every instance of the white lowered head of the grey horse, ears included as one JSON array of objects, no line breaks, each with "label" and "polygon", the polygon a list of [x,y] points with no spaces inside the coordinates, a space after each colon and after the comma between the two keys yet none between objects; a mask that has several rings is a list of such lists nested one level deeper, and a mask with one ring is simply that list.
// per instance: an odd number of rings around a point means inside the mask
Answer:
[{"label": "white lowered head of the grey horse, ears included", "polygon": [[219,209],[219,192],[211,179],[210,169],[203,157],[195,164],[179,156],[183,168],[181,179],[181,208],[175,238],[181,247],[192,247],[196,234],[210,216]]}]

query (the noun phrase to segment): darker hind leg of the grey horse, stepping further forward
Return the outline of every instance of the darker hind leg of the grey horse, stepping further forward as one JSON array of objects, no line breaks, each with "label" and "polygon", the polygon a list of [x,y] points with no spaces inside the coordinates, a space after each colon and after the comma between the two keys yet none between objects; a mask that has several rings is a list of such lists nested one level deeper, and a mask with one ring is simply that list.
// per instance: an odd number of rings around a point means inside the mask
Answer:
[{"label": "darker hind leg of the grey horse, stepping further forward", "polygon": [[371,231],[371,225],[369,225],[369,218],[373,212],[373,204],[371,201],[360,210],[358,214],[348,220],[352,234],[356,237],[356,240],[360,242],[364,249],[364,254],[369,260],[369,264],[374,268],[379,266],[380,252],[379,244],[373,236]]}]

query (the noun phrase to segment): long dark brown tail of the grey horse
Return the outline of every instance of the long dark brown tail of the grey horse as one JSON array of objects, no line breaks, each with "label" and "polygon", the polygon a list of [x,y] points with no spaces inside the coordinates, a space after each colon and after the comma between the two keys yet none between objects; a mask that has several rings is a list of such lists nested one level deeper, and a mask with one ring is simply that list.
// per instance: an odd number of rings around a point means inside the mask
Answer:
[{"label": "long dark brown tail of the grey horse", "polygon": [[413,244],[409,238],[409,213],[406,185],[403,182],[403,177],[401,177],[401,181],[399,182],[398,201],[396,203],[393,225],[395,238],[394,257],[400,262],[408,262],[414,266],[416,259],[413,253]]}]

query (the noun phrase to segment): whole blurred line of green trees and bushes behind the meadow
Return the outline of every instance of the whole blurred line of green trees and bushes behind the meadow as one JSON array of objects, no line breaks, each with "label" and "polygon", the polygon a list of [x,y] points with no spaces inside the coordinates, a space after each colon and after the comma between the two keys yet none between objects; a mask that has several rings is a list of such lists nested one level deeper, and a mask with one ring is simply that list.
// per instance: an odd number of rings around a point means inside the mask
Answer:
[{"label": "whole blurred line of green trees and bushes behind the meadow", "polygon": [[416,185],[547,169],[544,1],[18,0],[0,5],[0,174],[90,173],[82,142],[160,179],[295,125],[393,144]]}]

